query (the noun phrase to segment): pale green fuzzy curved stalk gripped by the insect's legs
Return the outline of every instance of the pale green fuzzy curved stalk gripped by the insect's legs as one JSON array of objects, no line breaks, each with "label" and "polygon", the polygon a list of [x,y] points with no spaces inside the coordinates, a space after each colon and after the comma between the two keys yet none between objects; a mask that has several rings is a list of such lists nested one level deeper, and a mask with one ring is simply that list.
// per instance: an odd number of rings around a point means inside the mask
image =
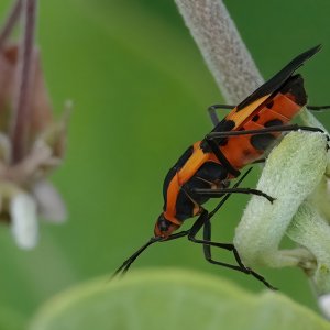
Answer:
[{"label": "pale green fuzzy curved stalk gripped by the insect's legs", "polygon": [[327,166],[327,136],[292,132],[271,153],[257,189],[276,198],[253,196],[235,230],[234,245],[246,266],[271,267],[309,264],[306,249],[278,250],[279,243],[302,201],[320,183]]}]

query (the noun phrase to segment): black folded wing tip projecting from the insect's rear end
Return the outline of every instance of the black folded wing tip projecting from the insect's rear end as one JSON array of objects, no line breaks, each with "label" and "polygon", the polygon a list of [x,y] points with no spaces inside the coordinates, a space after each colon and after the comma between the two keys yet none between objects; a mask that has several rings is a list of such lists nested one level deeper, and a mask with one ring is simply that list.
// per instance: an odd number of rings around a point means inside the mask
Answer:
[{"label": "black folded wing tip projecting from the insect's rear end", "polygon": [[238,107],[237,112],[252,103],[253,101],[272,94],[276,89],[280,88],[280,86],[293,75],[293,73],[298,69],[304,62],[318,53],[321,48],[321,45],[317,45],[305,53],[295,57],[289,64],[287,64],[280,72],[278,72],[275,76],[273,76],[270,80],[263,84],[260,88],[257,88],[253,94],[251,94],[245,100],[243,100]]}]

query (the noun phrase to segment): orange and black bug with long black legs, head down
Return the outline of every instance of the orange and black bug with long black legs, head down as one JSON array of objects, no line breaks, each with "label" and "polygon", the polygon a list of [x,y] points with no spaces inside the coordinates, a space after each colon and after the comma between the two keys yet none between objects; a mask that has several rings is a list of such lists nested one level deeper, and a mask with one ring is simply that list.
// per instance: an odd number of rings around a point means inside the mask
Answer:
[{"label": "orange and black bug with long black legs, head down", "polygon": [[[202,140],[190,145],[165,177],[164,207],[155,223],[154,237],[124,261],[113,276],[125,273],[135,258],[155,242],[187,237],[190,241],[204,245],[204,254],[208,262],[250,274],[267,287],[274,288],[262,275],[243,265],[233,244],[211,241],[210,219],[231,194],[254,194],[273,202],[274,198],[263,191],[239,187],[250,170],[232,188],[229,187],[230,182],[241,175],[240,169],[245,165],[262,160],[282,132],[322,132],[318,128],[289,124],[307,105],[304,79],[294,73],[319,50],[320,45],[295,57],[237,107],[216,105],[209,108],[215,128]],[[218,108],[233,109],[219,121],[216,113]],[[310,110],[321,108],[329,106],[309,107]],[[202,207],[210,198],[219,197],[222,199],[211,212]],[[187,219],[194,217],[198,218],[189,230],[177,232]],[[201,228],[202,240],[196,238]],[[211,246],[231,251],[238,264],[213,260]]]}]

